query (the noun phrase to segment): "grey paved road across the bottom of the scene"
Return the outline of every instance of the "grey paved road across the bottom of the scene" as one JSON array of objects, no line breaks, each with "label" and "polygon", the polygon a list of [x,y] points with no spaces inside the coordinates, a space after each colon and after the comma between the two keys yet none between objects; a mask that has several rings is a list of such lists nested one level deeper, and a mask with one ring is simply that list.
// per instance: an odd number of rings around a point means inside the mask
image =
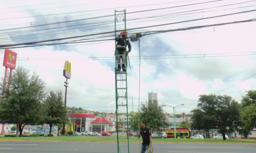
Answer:
[{"label": "grey paved road across the bottom of the scene", "polygon": [[[256,145],[244,144],[153,144],[154,153],[255,153]],[[140,153],[139,145],[131,143],[130,153]],[[115,143],[71,143],[71,142],[3,142],[0,153],[55,153],[55,152],[118,152]],[[122,148],[121,153],[125,151]]]}]

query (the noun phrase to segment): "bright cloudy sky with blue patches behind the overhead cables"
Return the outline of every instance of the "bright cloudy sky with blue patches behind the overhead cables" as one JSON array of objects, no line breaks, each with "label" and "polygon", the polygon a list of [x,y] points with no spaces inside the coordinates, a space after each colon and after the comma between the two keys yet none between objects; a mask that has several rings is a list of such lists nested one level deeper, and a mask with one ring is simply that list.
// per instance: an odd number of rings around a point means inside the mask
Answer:
[{"label": "bright cloudy sky with blue patches behind the overhead cables", "polygon": [[[256,88],[255,22],[236,23],[256,18],[253,11],[256,9],[255,1],[0,0],[0,8],[0,45],[114,31],[115,9],[126,9],[126,28],[134,28],[128,31],[129,34],[145,34],[140,41],[140,103],[145,103],[148,92],[153,91],[158,93],[159,104],[185,104],[177,107],[176,112],[189,113],[197,106],[200,94],[227,94],[239,101],[246,90]],[[232,15],[208,19],[223,14]],[[195,28],[230,22],[233,24]],[[159,24],[166,25],[152,26]],[[119,21],[117,25],[117,30],[122,30],[123,22]],[[177,31],[178,28],[192,29]],[[151,34],[161,30],[173,31]],[[98,38],[79,37],[41,44],[115,38],[113,32],[109,34],[112,36],[101,34]],[[129,111],[132,111],[131,97],[137,111],[138,41],[131,42],[131,46],[127,94]],[[68,81],[67,105],[115,112],[115,41],[9,48],[17,53],[16,67],[23,66],[30,72],[37,72],[48,90],[61,90],[63,93],[63,67],[65,60],[69,60],[72,79]],[[0,49],[1,60],[4,49]],[[0,77],[4,76],[4,71],[2,67]],[[170,108],[164,110],[172,113]]]}]

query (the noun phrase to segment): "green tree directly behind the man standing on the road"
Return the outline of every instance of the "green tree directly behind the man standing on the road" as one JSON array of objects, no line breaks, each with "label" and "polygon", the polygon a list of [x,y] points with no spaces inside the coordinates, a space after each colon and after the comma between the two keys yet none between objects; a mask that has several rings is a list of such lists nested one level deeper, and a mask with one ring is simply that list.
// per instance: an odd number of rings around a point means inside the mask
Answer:
[{"label": "green tree directly behind the man standing on the road", "polygon": [[169,126],[169,123],[166,122],[162,105],[154,103],[141,104],[140,122],[141,121],[145,121],[148,128],[156,130],[167,128]]}]

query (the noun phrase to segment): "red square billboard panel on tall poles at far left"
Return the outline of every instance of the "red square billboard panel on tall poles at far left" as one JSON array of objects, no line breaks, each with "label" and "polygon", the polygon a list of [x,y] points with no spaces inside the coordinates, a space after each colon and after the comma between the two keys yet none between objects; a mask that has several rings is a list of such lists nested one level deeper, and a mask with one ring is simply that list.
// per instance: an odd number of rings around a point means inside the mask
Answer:
[{"label": "red square billboard panel on tall poles at far left", "polygon": [[3,66],[9,67],[15,70],[16,67],[17,53],[12,50],[5,49],[5,56],[3,57]]}]

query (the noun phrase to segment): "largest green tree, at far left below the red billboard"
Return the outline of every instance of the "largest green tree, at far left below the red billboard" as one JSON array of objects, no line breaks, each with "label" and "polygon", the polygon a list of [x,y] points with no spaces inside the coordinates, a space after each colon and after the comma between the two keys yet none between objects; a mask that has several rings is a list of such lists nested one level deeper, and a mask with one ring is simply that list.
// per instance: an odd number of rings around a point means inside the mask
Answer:
[{"label": "largest green tree, at far left below the red billboard", "polygon": [[25,125],[42,123],[41,101],[45,97],[45,82],[35,72],[30,75],[26,68],[17,67],[11,80],[6,81],[5,88],[2,86],[2,91],[4,96],[1,97],[0,104],[1,123],[17,124],[16,137],[19,133],[22,136]]}]

